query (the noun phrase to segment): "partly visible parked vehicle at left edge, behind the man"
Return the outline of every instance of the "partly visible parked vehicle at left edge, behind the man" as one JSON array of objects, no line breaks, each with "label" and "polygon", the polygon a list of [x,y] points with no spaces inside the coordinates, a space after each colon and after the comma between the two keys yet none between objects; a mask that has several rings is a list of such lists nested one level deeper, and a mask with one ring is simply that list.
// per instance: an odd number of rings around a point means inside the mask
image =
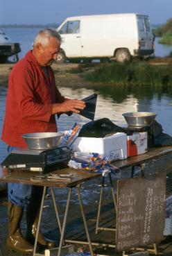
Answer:
[{"label": "partly visible parked vehicle at left edge, behind the man", "polygon": [[0,28],[0,62],[6,62],[10,56],[15,56],[17,61],[17,53],[20,51],[19,43],[12,42],[10,37]]}]

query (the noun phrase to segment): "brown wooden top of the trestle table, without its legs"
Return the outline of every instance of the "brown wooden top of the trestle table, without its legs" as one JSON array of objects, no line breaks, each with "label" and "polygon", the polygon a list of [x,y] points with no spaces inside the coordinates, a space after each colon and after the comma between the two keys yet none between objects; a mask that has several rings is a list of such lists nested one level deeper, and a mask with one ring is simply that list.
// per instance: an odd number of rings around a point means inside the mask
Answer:
[{"label": "brown wooden top of the trestle table, without its legs", "polygon": [[[167,153],[172,153],[172,147],[171,146],[163,146],[160,148],[150,148],[148,153],[137,155],[135,157],[129,157],[126,160],[119,160],[112,162],[114,166],[119,167],[120,169],[123,169],[125,167],[132,167],[135,165],[139,165],[143,162],[146,162],[146,160],[150,160],[156,157],[159,157],[161,155],[166,155]],[[89,180],[91,178],[96,178],[98,176],[101,176],[100,173],[95,172],[88,172],[88,171],[80,171],[72,168],[65,168],[65,169],[58,169],[56,171],[53,171],[53,173],[58,174],[73,174],[73,178],[71,181],[65,181],[65,182],[59,182],[59,181],[47,181],[47,180],[31,180],[32,176],[39,175],[41,172],[36,171],[24,171],[15,169],[14,171],[8,171],[6,169],[1,169],[0,167],[0,182],[19,182],[19,183],[25,183],[25,184],[31,184],[31,185],[42,185],[47,187],[74,187],[81,182],[85,182],[86,180]]]}]

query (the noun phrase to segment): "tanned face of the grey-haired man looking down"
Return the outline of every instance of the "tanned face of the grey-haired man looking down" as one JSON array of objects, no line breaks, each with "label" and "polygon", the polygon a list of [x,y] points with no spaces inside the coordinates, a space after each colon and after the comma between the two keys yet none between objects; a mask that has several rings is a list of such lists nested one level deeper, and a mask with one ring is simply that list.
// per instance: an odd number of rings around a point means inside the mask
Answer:
[{"label": "tanned face of the grey-haired man looking down", "polygon": [[50,37],[49,44],[37,44],[37,61],[43,67],[51,66],[58,58],[60,44],[55,37]]}]

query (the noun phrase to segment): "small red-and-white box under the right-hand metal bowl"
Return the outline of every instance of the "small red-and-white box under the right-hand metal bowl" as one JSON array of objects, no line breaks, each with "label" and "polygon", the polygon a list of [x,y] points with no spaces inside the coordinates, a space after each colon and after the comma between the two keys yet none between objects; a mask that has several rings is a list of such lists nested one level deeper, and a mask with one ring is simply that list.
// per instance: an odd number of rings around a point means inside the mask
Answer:
[{"label": "small red-and-white box under the right-hand metal bowl", "polygon": [[128,157],[141,155],[148,151],[148,133],[133,133],[127,136]]}]

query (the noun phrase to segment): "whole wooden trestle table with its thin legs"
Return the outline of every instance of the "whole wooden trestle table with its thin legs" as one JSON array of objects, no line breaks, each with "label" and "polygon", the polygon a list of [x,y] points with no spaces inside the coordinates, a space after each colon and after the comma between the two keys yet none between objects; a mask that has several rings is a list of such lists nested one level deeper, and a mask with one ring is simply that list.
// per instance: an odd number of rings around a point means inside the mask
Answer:
[{"label": "whole wooden trestle table with its thin legs", "polygon": [[[150,148],[148,153],[142,154],[142,155],[137,155],[135,157],[130,157],[126,160],[118,160],[115,162],[112,162],[112,164],[116,167],[119,167],[120,169],[124,169],[126,167],[132,167],[132,175],[134,173],[134,168],[136,166],[141,166],[142,164],[144,164],[146,161],[151,160],[151,159],[155,159],[157,157],[160,157],[162,155],[166,155],[168,153],[172,153],[172,146],[163,146],[160,148]],[[143,171],[143,168],[142,168]],[[81,210],[81,214],[83,216],[83,222],[85,225],[85,232],[87,234],[87,244],[89,245],[89,249],[91,254],[93,255],[93,250],[92,250],[92,243],[89,237],[89,231],[87,229],[87,221],[85,219],[85,213],[83,210],[83,203],[80,197],[80,185],[81,183],[90,180],[92,178],[96,178],[98,176],[101,176],[100,173],[89,173],[87,171],[78,171],[75,169],[71,169],[71,168],[66,168],[66,169],[59,169],[56,171],[53,171],[53,173],[58,173],[58,174],[69,174],[72,173],[72,179],[68,182],[64,182],[64,181],[47,181],[45,180],[31,180],[32,176],[36,175],[36,172],[33,171],[19,171],[19,170],[13,170],[12,172],[9,172],[6,169],[0,169],[0,182],[19,182],[19,183],[24,183],[24,184],[30,184],[30,185],[38,185],[38,186],[43,186],[44,187],[44,192],[42,195],[42,203],[41,203],[41,209],[40,209],[40,217],[39,217],[39,221],[38,221],[38,228],[37,228],[37,234],[35,237],[35,246],[34,246],[34,251],[33,251],[33,256],[37,255],[36,254],[36,247],[37,247],[37,236],[38,236],[38,232],[40,229],[40,221],[41,221],[41,216],[42,216],[42,209],[43,209],[43,205],[44,205],[44,198],[46,195],[46,188],[50,187],[51,189],[51,194],[52,194],[52,198],[53,198],[53,205],[55,207],[55,213],[58,219],[58,225],[60,228],[60,232],[61,232],[61,236],[60,236],[60,244],[59,244],[59,250],[58,250],[58,256],[60,256],[61,253],[61,249],[62,249],[62,242],[64,239],[64,235],[65,235],[65,228],[66,228],[66,223],[67,223],[67,214],[69,212],[69,202],[70,202],[70,198],[71,198],[71,191],[72,189],[75,187],[77,190],[77,194],[78,194],[78,200],[80,203],[80,210]],[[111,189],[112,189],[112,197],[114,200],[114,208],[116,209],[116,198],[114,196],[114,187],[112,185],[112,180],[111,180],[111,176],[110,177],[110,182],[111,182]],[[65,209],[65,216],[64,216],[64,221],[62,223],[62,227],[60,224],[60,219],[59,219],[59,215],[58,215],[58,210],[57,207],[55,205],[55,196],[54,196],[54,192],[53,192],[53,188],[68,188],[68,196],[67,196],[67,205],[66,205],[66,209]],[[103,194],[103,187],[104,187],[104,177],[102,179],[102,187],[101,187],[101,194],[100,194],[100,198],[99,198],[99,203],[98,203],[98,215],[97,215],[97,221],[96,221],[96,232],[98,232],[98,230],[109,230],[108,228],[102,228],[98,225],[99,223],[99,219],[100,219],[100,213],[101,213],[101,200],[102,200],[102,194]],[[115,230],[115,229],[110,229]],[[66,240],[67,241],[67,240]],[[69,241],[69,240],[68,240]],[[96,244],[95,244],[96,245]],[[115,247],[115,245],[114,245]]]}]

